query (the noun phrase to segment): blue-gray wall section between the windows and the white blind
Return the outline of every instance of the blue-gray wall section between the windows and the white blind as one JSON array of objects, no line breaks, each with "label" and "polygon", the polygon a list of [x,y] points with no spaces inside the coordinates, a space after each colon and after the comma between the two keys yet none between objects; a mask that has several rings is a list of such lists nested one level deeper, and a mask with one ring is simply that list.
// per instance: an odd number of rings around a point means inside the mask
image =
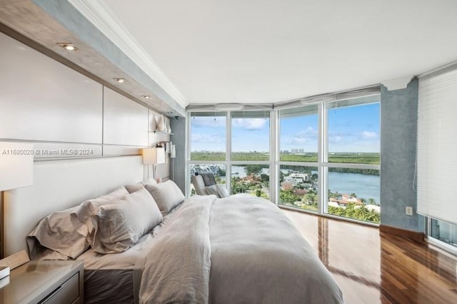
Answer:
[{"label": "blue-gray wall section between the windows and the white blind", "polygon": [[417,106],[417,78],[394,91],[381,85],[381,224],[423,232],[416,213]]}]

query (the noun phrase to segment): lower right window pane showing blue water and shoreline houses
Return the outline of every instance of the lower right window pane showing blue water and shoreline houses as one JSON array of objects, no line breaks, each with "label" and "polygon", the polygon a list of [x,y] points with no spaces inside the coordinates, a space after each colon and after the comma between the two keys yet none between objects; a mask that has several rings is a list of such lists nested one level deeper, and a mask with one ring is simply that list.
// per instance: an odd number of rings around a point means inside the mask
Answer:
[{"label": "lower right window pane showing blue water and shoreline houses", "polygon": [[379,223],[380,178],[373,169],[328,168],[328,213]]}]

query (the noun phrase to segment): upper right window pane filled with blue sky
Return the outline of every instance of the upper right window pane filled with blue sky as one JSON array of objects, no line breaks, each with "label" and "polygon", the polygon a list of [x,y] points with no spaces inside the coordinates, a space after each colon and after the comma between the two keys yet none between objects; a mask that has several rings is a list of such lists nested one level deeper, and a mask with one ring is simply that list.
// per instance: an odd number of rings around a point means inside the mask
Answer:
[{"label": "upper right window pane filled with blue sky", "polygon": [[379,164],[379,105],[379,95],[328,104],[329,162]]}]

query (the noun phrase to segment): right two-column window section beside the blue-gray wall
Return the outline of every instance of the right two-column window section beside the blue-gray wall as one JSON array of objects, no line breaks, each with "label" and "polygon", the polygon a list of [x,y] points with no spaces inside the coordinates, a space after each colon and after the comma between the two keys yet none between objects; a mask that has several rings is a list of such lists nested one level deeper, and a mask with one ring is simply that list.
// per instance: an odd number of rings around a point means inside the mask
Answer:
[{"label": "right two-column window section beside the blue-gray wall", "polygon": [[379,223],[379,95],[286,108],[278,117],[278,204]]}]

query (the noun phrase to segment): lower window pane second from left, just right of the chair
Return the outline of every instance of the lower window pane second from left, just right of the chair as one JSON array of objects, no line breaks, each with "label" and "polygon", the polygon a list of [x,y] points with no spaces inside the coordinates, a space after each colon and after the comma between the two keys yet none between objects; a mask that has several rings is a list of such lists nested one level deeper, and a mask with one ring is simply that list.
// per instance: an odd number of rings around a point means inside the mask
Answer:
[{"label": "lower window pane second from left, just right of the chair", "polygon": [[249,193],[252,196],[270,198],[270,166],[231,166],[231,194]]}]

